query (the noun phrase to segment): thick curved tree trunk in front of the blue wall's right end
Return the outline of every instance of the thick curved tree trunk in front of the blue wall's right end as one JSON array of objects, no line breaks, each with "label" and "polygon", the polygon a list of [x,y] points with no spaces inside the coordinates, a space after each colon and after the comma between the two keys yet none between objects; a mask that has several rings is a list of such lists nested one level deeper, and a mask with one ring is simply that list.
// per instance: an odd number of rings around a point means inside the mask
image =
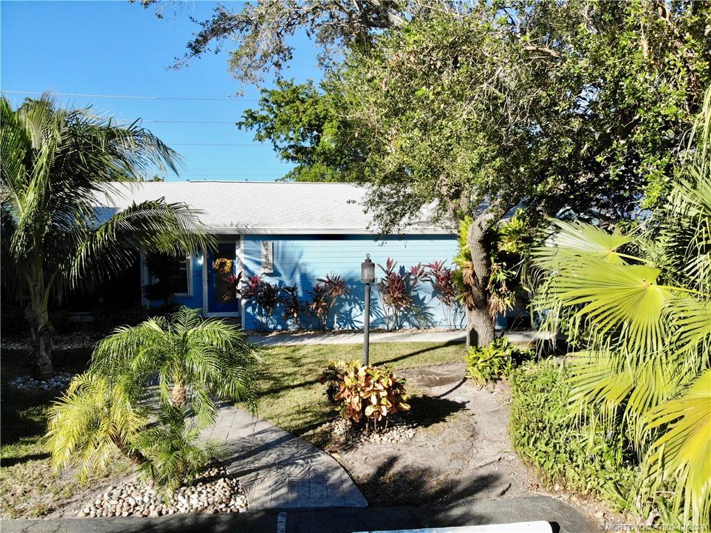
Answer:
[{"label": "thick curved tree trunk in front of the blue wall's right end", "polygon": [[474,270],[474,283],[471,283],[471,309],[466,308],[466,347],[486,346],[494,339],[494,320],[489,310],[488,279],[491,275],[491,262],[484,244],[486,232],[496,218],[493,212],[485,211],[478,216],[469,228],[469,251]]}]

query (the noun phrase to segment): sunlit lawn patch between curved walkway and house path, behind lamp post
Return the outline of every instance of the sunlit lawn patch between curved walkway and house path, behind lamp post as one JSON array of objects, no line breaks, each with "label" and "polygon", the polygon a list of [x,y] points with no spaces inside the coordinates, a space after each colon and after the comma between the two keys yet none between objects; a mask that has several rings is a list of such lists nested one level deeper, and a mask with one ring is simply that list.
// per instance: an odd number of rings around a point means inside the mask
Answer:
[{"label": "sunlit lawn patch between curved walkway and house path, behind lamp post", "polygon": [[[461,362],[463,344],[423,342],[377,343],[370,345],[370,364],[387,364],[396,369]],[[331,416],[319,376],[329,359],[363,359],[360,344],[272,347],[263,350],[258,414],[280,428],[319,445],[328,444],[318,431]],[[409,389],[410,393],[416,392]]]}]

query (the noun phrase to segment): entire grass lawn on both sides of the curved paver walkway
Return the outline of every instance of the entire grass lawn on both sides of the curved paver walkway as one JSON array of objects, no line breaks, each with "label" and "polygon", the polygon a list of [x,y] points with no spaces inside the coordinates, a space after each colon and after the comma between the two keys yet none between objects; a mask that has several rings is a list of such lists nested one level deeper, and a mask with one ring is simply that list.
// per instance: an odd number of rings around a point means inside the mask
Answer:
[{"label": "entire grass lawn on both sides of the curved paver walkway", "polygon": [[[329,359],[362,359],[363,347],[358,344],[273,347],[264,349],[263,357],[259,415],[316,445],[328,444],[324,432],[317,431],[333,414],[319,376]],[[461,344],[392,343],[370,347],[371,364],[388,364],[397,369],[461,362],[463,358]],[[86,355],[78,361],[70,359],[62,370],[81,371],[85,360]],[[55,475],[42,440],[47,410],[58,393],[21,391],[9,384],[16,376],[28,373],[25,356],[2,354],[0,517],[3,518],[46,516],[81,492],[106,487],[132,468],[117,454],[106,472],[97,472],[85,482],[77,480],[70,471]],[[416,391],[410,388],[410,392]],[[413,401],[417,403],[417,399]],[[440,413],[437,408],[442,410],[442,406],[434,406],[418,407],[418,411],[433,420],[451,414]]]}]

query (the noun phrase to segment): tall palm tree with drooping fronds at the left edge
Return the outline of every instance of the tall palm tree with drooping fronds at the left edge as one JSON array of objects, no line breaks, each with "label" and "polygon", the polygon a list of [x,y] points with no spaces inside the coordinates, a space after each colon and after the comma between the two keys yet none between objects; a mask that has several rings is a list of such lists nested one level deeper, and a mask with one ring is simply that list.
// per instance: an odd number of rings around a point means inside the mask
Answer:
[{"label": "tall palm tree with drooping fronds at the left edge", "polygon": [[132,249],[191,253],[211,241],[185,204],[156,199],[99,218],[100,197],[118,194],[110,181],[139,180],[164,164],[176,170],[176,153],[135,122],[119,127],[87,109],[62,109],[45,94],[17,109],[2,97],[0,123],[2,283],[28,300],[32,362],[47,377],[53,295],[125,268]]}]

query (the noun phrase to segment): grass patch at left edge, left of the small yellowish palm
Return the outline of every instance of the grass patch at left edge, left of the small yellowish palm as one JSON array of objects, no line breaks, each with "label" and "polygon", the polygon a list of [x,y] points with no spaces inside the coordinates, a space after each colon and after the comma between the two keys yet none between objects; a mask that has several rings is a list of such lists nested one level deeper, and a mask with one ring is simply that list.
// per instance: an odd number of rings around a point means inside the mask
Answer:
[{"label": "grass patch at left edge, left of the small yellowish palm", "polygon": [[77,480],[71,472],[55,475],[42,439],[47,428],[47,410],[58,393],[23,391],[10,385],[16,376],[28,373],[22,357],[3,352],[0,380],[0,517],[3,518],[45,516],[78,492],[103,487],[109,482],[107,477],[122,476],[130,468],[117,455],[107,472],[96,473],[85,482]]}]

